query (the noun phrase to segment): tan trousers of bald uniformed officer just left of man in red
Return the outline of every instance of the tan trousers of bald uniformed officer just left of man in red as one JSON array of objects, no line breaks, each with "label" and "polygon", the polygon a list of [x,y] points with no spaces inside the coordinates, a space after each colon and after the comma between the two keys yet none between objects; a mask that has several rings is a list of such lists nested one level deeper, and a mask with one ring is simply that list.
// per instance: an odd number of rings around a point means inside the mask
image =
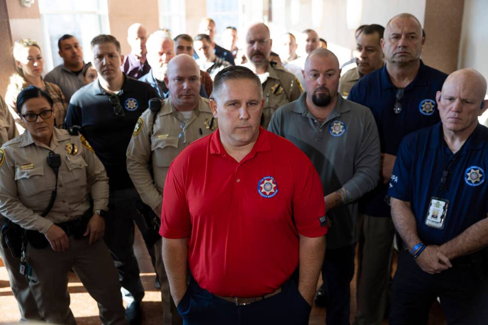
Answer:
[{"label": "tan trousers of bald uniformed officer just left of man in red", "polygon": [[163,305],[163,325],[182,325],[183,319],[181,318],[173,298],[169,292],[168,276],[164,269],[163,257],[162,257],[162,243],[161,239],[154,244],[154,254],[156,256],[156,272],[159,277],[159,283],[161,284],[161,303]]}]

